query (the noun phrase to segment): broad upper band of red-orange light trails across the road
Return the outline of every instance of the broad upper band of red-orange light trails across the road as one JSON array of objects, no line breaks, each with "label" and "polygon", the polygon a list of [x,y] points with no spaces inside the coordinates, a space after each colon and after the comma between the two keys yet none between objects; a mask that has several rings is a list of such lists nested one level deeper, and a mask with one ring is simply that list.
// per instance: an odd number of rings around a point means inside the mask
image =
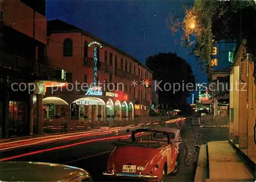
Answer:
[{"label": "broad upper band of red-orange light trails across the road", "polygon": [[[100,131],[88,131],[88,132],[79,132],[79,133],[75,133],[74,134],[62,134],[62,135],[58,135],[58,136],[54,136],[52,137],[52,139],[48,139],[49,137],[42,137],[35,141],[32,141],[30,143],[27,143],[28,140],[25,141],[20,141],[18,144],[14,144],[13,143],[7,143],[6,145],[2,145],[0,147],[0,151],[3,150],[10,150],[10,149],[14,149],[14,148],[20,148],[20,147],[26,147],[26,146],[31,146],[31,145],[37,145],[37,144],[42,144],[42,143],[49,143],[49,142],[53,142],[53,141],[57,141],[57,140],[63,140],[63,139],[74,139],[74,138],[78,138],[78,137],[90,137],[90,136],[96,136],[96,135],[107,135],[107,134],[111,134],[112,132],[118,132],[120,129],[126,129],[126,128],[131,128],[131,127],[138,127],[133,125],[129,125],[129,126],[123,126],[123,127],[115,127],[112,129],[101,129]],[[132,128],[133,128],[132,127]],[[79,134],[79,135],[77,135]],[[71,135],[71,136],[70,136]],[[39,140],[39,141],[38,141]]]}]

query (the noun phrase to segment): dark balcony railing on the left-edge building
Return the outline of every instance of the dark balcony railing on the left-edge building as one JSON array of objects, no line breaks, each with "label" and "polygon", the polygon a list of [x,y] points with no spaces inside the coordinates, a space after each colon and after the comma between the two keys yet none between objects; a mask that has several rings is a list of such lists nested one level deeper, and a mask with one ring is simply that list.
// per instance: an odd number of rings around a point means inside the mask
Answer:
[{"label": "dark balcony railing on the left-edge building", "polygon": [[4,55],[4,63],[7,68],[19,70],[22,75],[32,75],[32,73],[39,77],[44,77],[44,79],[63,81],[65,76],[62,76],[62,69],[52,66],[41,64],[39,62],[33,62],[22,57],[15,55]]}]

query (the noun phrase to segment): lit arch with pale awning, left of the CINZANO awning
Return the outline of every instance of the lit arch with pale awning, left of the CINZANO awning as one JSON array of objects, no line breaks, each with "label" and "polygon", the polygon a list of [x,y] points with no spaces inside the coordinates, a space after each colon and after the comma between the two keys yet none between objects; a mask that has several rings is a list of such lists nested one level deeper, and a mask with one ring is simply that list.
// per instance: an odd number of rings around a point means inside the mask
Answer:
[{"label": "lit arch with pale awning, left of the CINZANO awning", "polygon": [[44,118],[54,119],[65,117],[69,112],[69,104],[59,97],[46,97],[42,99]]}]

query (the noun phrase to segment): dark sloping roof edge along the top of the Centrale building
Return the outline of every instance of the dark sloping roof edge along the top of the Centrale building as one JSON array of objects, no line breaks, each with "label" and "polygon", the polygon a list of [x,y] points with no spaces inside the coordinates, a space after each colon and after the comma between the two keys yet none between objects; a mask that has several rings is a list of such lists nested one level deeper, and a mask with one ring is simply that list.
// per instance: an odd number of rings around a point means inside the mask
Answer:
[{"label": "dark sloping roof edge along the top of the Centrale building", "polygon": [[[62,21],[61,19],[56,18],[56,19],[48,20],[47,22],[51,22],[51,21],[54,21],[54,20],[55,20],[55,21],[56,21],[56,20]],[[99,41],[99,42],[102,42],[103,46],[109,46],[109,47],[111,47],[111,48],[117,50],[119,53],[125,55],[126,57],[131,58],[131,59],[134,60],[136,63],[138,63],[139,65],[141,65],[141,66],[143,66],[144,68],[146,68],[148,71],[153,72],[153,71],[150,70],[146,65],[144,65],[143,63],[141,63],[138,59],[136,59],[135,57],[133,57],[133,56],[130,55],[130,54],[125,53],[125,51],[123,51],[123,50],[121,50],[121,49],[115,47],[114,45],[111,45],[110,43],[108,43],[108,42],[106,42],[106,41],[100,39],[99,37],[96,37],[96,36],[92,35],[92,34],[89,33],[89,32],[86,32],[86,31],[84,31],[84,30],[82,30],[82,29],[76,27],[76,26],[73,25],[73,24],[70,24],[70,23],[68,23],[68,22],[66,22],[66,21],[62,21],[62,22],[63,22],[63,23],[67,23],[67,24],[73,26],[74,28],[76,28],[76,30],[71,30],[71,31],[51,31],[50,33],[80,32],[80,33],[82,33],[82,34],[85,34],[85,35],[87,35],[87,36],[89,36],[89,37],[91,37],[91,38],[93,38],[93,39]]]}]

